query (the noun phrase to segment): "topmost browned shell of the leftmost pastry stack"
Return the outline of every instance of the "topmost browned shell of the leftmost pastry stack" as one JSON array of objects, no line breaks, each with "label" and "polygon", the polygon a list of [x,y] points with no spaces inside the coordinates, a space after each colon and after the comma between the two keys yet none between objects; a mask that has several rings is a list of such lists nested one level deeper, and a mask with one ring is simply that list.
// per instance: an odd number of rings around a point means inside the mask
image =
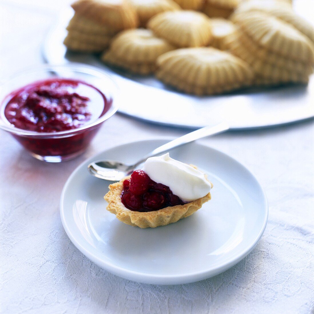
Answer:
[{"label": "topmost browned shell of the leftmost pastry stack", "polygon": [[78,0],[71,6],[77,14],[116,30],[139,24],[135,8],[127,0]]}]

